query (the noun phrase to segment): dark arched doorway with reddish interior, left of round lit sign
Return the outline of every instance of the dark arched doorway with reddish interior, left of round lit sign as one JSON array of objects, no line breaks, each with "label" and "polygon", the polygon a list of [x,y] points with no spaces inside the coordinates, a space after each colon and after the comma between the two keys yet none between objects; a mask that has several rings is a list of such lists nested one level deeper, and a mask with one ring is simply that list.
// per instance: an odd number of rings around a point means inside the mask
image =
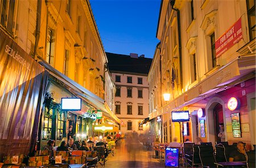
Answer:
[{"label": "dark arched doorway with reddish interior, left of round lit sign", "polygon": [[213,119],[214,119],[214,136],[215,141],[220,143],[225,141],[225,130],[224,130],[224,120],[223,120],[223,107],[221,104],[217,104],[213,108]]}]

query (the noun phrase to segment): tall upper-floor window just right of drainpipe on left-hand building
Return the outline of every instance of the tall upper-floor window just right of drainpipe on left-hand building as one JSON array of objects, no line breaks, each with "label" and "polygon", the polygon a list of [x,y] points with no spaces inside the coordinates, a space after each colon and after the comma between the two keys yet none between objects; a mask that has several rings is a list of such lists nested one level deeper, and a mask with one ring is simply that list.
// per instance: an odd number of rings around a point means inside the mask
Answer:
[{"label": "tall upper-floor window just right of drainpipe on left-hand building", "polygon": [[54,31],[48,29],[47,44],[46,44],[46,62],[54,66],[54,52],[55,52],[55,37]]}]

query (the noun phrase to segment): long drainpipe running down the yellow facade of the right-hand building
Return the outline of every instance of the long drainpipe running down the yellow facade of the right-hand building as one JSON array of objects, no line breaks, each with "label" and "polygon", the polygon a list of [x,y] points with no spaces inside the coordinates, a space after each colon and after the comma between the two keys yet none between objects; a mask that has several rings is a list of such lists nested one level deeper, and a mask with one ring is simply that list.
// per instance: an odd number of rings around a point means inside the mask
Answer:
[{"label": "long drainpipe running down the yellow facade of the right-hand building", "polygon": [[180,29],[180,10],[177,8],[174,8],[175,0],[172,0],[171,2],[172,9],[177,12],[177,26],[178,26],[178,36],[179,36],[179,54],[180,54],[180,87],[182,88],[183,83],[183,74],[182,74],[182,57],[181,57],[181,29]]}]

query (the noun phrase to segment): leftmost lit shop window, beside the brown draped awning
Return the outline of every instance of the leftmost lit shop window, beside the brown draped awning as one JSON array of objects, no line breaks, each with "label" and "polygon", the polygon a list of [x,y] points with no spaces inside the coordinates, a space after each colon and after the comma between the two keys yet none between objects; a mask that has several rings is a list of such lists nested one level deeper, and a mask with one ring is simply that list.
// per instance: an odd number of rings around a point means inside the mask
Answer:
[{"label": "leftmost lit shop window, beside the brown draped awning", "polygon": [[53,110],[45,110],[44,111],[44,126],[43,126],[43,139],[49,140],[52,138],[52,115]]}]

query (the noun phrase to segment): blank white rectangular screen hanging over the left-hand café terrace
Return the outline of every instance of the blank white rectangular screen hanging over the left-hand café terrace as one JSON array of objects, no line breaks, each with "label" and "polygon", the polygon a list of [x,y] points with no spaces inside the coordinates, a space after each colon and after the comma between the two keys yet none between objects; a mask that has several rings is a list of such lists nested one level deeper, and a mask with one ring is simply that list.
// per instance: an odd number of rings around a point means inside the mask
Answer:
[{"label": "blank white rectangular screen hanging over the left-hand caf\u00e9 terrace", "polygon": [[62,110],[81,110],[81,98],[61,98]]}]

